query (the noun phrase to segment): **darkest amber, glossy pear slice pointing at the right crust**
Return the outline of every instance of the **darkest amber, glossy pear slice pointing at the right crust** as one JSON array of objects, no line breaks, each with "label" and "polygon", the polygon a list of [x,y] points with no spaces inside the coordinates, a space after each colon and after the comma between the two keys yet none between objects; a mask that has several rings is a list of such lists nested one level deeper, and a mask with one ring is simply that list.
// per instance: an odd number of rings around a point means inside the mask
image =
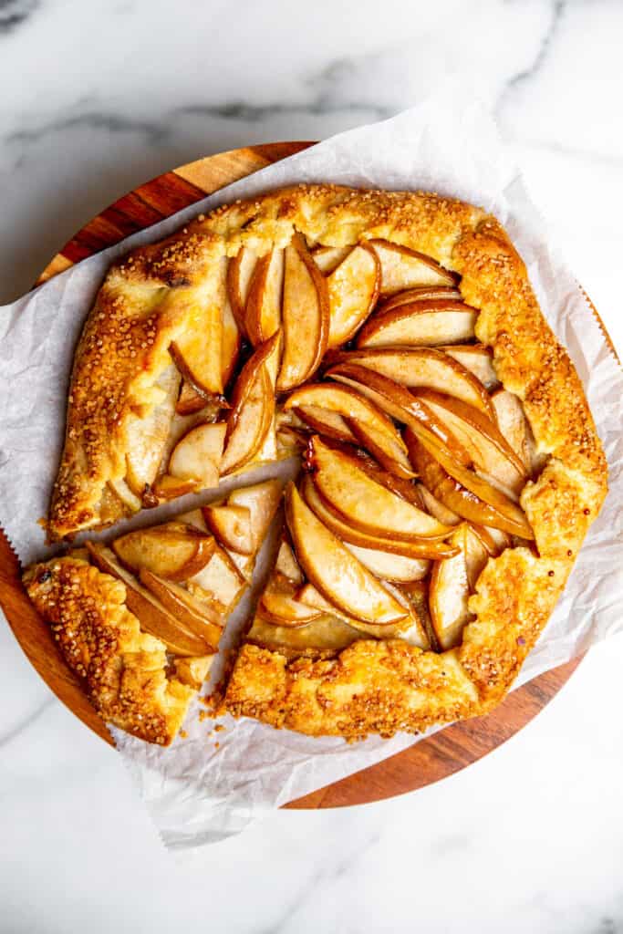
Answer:
[{"label": "darkest amber, glossy pear slice pointing at the right crust", "polygon": [[479,525],[534,538],[523,511],[501,490],[456,463],[441,447],[427,446],[408,428],[404,440],[422,483],[448,509]]}]

